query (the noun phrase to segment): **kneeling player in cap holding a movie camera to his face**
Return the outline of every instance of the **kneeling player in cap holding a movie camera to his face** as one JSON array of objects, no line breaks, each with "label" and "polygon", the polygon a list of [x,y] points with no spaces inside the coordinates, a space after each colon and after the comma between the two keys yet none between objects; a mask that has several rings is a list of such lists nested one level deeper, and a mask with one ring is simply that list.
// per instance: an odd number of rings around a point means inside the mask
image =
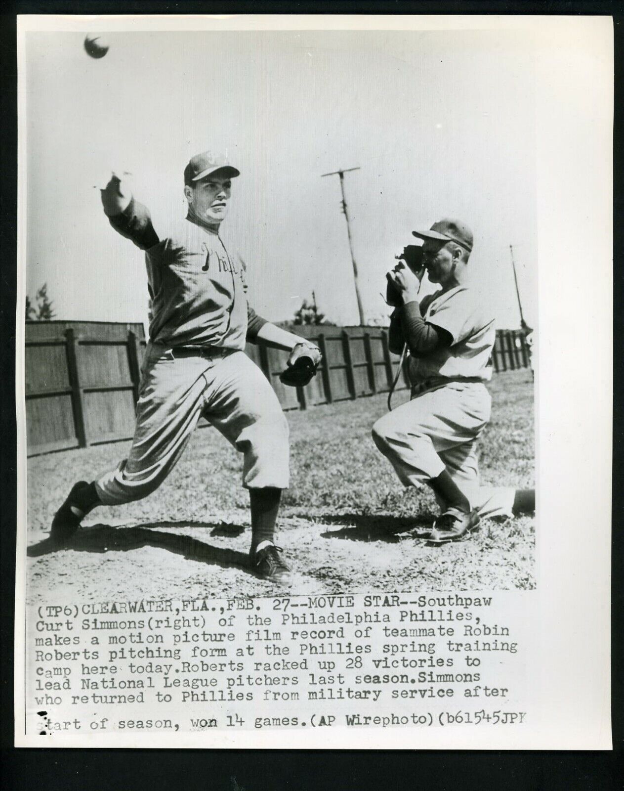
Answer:
[{"label": "kneeling player in cap holding a movie camera to his face", "polygon": [[[373,440],[405,486],[427,484],[441,506],[429,542],[467,536],[483,517],[535,510],[534,490],[479,486],[476,442],[490,420],[486,382],[496,339],[494,317],[464,285],[473,237],[459,220],[413,231],[422,264],[400,261],[387,277],[395,294],[389,345],[409,350],[411,399],[380,418]],[[440,289],[419,300],[425,271]]]}]

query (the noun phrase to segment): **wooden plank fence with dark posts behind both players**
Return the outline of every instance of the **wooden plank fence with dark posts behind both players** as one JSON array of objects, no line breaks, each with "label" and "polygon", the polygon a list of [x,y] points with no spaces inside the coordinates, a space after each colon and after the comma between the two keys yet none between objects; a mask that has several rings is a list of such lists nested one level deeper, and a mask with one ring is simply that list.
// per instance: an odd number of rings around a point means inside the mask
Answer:
[{"label": "wooden plank fence with dark posts behind both players", "polygon": [[[305,388],[280,382],[286,352],[247,348],[285,410],[388,392],[397,358],[383,327],[323,324],[296,331],[323,352],[322,368]],[[146,347],[142,324],[28,321],[25,346],[28,456],[132,437]],[[497,331],[493,362],[495,371],[528,367],[524,333]],[[407,386],[403,369],[397,389]]]}]

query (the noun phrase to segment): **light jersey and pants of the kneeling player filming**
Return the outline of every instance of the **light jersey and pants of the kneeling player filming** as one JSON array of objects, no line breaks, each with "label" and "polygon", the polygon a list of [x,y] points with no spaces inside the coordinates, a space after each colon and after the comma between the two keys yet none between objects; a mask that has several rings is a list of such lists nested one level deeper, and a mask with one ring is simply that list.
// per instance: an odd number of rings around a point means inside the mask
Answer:
[{"label": "light jersey and pants of the kneeling player filming", "polygon": [[410,354],[411,399],[375,423],[373,440],[405,486],[420,486],[446,469],[482,518],[511,516],[515,489],[481,487],[478,479],[476,442],[490,421],[484,383],[492,377],[494,319],[467,286],[425,297],[421,310],[452,343]]}]

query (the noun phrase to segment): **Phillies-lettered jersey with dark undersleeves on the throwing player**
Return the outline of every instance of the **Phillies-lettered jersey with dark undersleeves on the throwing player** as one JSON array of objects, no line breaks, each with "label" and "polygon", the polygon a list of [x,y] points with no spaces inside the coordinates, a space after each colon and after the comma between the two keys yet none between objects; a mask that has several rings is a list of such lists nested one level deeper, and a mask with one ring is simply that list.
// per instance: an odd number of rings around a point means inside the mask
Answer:
[{"label": "Phillies-lettered jersey with dark undersleeves on the throwing player", "polygon": [[189,212],[156,233],[149,210],[134,199],[109,221],[146,252],[154,343],[244,350],[266,323],[248,306],[243,259],[225,248],[216,228]]}]

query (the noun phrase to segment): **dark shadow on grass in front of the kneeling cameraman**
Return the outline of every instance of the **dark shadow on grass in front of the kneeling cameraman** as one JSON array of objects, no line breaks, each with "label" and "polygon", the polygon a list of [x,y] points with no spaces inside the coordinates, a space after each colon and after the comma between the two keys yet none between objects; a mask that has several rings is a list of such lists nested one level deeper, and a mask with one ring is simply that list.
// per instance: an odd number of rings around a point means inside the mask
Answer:
[{"label": "dark shadow on grass in front of the kneeling cameraman", "polygon": [[433,515],[420,513],[418,517],[391,517],[380,514],[341,513],[320,515],[324,524],[342,524],[339,530],[327,530],[321,533],[323,539],[347,539],[349,541],[385,541],[397,543],[401,540],[399,533],[429,533]]}]

